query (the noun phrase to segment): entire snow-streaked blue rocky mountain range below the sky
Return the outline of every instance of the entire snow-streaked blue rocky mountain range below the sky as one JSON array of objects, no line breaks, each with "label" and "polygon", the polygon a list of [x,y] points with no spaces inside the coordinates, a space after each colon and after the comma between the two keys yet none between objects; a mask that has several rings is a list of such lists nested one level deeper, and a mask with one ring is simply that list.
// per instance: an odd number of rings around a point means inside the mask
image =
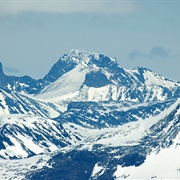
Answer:
[{"label": "entire snow-streaked blue rocky mountain range below the sky", "polygon": [[180,179],[180,82],[72,49],[42,79],[0,64],[0,179]]}]

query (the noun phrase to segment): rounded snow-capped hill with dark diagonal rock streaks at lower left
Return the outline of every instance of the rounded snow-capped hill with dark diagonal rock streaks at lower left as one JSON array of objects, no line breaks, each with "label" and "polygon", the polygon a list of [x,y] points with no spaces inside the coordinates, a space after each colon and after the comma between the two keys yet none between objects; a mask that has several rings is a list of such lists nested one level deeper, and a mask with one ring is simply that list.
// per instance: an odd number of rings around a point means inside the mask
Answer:
[{"label": "rounded snow-capped hill with dark diagonal rock streaks at lower left", "polygon": [[0,116],[1,158],[23,158],[52,152],[76,141],[77,137],[50,119],[12,114]]}]

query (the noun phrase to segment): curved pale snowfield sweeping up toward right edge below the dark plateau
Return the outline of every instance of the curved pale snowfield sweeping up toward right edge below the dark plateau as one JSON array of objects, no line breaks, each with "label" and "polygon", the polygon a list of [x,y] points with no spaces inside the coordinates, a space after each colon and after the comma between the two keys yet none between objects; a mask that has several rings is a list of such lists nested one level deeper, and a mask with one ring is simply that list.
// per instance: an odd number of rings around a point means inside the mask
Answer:
[{"label": "curved pale snowfield sweeping up toward right edge below the dark plateau", "polygon": [[[180,104],[180,99],[177,99],[169,108],[164,109],[156,116],[150,116],[146,119],[139,119],[135,122],[128,122],[126,124],[116,126],[114,128],[95,129],[88,126],[83,128],[82,125],[76,123],[63,123],[67,132],[73,132],[84,139],[83,147],[92,149],[94,144],[102,144],[103,146],[116,147],[116,146],[134,146],[138,145],[144,136],[148,136],[150,128],[156,125],[159,121],[166,118],[174,111]],[[180,108],[176,116],[180,116]],[[165,129],[164,129],[165,131]],[[168,130],[166,130],[168,132]],[[158,134],[158,133],[157,133]],[[164,134],[165,136],[165,134]]]}]

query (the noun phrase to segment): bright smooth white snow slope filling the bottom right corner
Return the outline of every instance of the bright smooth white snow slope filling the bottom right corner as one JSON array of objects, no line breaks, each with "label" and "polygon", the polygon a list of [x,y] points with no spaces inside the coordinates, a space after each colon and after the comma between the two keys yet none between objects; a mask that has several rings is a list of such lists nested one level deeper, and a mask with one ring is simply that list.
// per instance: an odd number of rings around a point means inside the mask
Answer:
[{"label": "bright smooth white snow slope filling the bottom right corner", "polygon": [[180,133],[174,139],[174,144],[160,152],[152,152],[145,162],[138,167],[117,166],[114,173],[116,180],[120,179],[180,179]]}]

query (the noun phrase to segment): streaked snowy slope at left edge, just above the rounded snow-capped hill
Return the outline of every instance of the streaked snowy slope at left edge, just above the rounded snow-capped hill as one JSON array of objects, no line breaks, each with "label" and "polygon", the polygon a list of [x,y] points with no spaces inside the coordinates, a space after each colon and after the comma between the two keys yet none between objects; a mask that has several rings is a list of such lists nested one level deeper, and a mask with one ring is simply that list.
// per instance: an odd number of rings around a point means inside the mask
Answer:
[{"label": "streaked snowy slope at left edge, just above the rounded snow-capped hill", "polygon": [[0,115],[29,114],[54,118],[60,114],[61,107],[48,101],[37,100],[26,94],[0,89]]}]

